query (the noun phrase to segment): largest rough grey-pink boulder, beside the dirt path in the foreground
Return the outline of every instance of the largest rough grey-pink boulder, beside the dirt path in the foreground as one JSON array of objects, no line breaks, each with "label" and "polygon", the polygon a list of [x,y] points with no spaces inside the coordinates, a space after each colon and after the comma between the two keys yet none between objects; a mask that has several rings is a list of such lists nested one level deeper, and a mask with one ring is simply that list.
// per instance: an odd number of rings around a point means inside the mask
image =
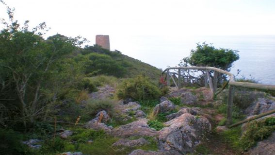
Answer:
[{"label": "largest rough grey-pink boulder, beside the dirt path in the foreground", "polygon": [[167,127],[159,131],[161,150],[176,150],[182,154],[192,152],[204,134],[211,130],[207,118],[197,118],[190,113],[184,113],[164,124]]}]

